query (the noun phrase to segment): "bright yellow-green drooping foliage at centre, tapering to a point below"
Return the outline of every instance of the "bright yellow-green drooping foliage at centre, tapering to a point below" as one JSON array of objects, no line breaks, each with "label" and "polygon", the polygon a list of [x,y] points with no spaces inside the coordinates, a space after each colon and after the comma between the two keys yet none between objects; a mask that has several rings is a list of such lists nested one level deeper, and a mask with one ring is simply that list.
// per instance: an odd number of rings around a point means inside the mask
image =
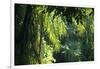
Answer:
[{"label": "bright yellow-green drooping foliage at centre, tapering to a point below", "polygon": [[[62,34],[66,34],[66,26],[61,16],[54,16],[55,10],[50,14],[46,13],[45,15],[45,29],[49,34],[49,39],[54,45],[54,50],[59,51],[60,41],[59,38]],[[53,18],[54,17],[54,18]]]}]

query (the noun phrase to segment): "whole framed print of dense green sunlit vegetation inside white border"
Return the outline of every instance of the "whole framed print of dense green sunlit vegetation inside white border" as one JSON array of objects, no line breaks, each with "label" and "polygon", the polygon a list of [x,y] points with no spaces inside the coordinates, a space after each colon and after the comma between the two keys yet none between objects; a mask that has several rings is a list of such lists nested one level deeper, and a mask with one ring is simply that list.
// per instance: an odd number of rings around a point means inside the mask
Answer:
[{"label": "whole framed print of dense green sunlit vegetation inside white border", "polygon": [[94,9],[15,4],[15,65],[94,60]]}]

